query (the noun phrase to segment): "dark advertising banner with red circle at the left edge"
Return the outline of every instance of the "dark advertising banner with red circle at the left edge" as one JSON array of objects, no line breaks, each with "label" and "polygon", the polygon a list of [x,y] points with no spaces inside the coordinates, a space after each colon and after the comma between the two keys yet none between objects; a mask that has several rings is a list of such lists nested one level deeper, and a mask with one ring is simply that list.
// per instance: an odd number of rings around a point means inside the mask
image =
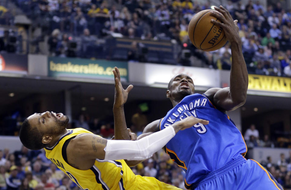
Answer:
[{"label": "dark advertising banner with red circle at the left edge", "polygon": [[28,71],[27,55],[18,55],[14,53],[0,54],[0,72],[24,72]]}]

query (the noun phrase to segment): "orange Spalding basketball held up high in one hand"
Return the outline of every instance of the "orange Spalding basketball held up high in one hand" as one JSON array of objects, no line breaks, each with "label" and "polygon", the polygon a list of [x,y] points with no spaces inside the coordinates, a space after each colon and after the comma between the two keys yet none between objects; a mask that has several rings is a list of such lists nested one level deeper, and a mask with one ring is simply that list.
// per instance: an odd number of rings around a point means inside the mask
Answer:
[{"label": "orange Spalding basketball held up high in one hand", "polygon": [[220,14],[218,11],[211,9],[200,11],[195,14],[188,26],[188,35],[192,44],[203,51],[218,50],[227,42],[222,27],[211,22],[211,19],[221,22],[210,15],[211,11]]}]

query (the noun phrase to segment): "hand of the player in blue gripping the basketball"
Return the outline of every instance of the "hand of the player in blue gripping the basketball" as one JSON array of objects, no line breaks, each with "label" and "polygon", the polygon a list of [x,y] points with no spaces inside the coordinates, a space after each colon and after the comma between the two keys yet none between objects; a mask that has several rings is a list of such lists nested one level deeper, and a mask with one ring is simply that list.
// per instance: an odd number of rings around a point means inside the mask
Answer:
[{"label": "hand of the player in blue gripping the basketball", "polygon": [[239,37],[239,30],[237,26],[237,20],[233,21],[232,16],[230,15],[229,11],[226,8],[222,7],[221,5],[218,7],[214,7],[216,11],[219,13],[212,11],[210,14],[216,18],[218,18],[222,23],[211,19],[211,22],[214,24],[219,25],[222,27],[227,40],[232,42],[241,42]]}]

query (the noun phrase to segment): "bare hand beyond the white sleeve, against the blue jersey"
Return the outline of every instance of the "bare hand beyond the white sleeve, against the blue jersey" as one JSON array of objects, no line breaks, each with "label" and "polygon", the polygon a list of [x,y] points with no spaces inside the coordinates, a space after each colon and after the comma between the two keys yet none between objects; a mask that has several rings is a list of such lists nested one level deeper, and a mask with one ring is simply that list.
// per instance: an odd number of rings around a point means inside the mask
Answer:
[{"label": "bare hand beyond the white sleeve, against the blue jersey", "polygon": [[[195,125],[197,123],[207,125],[207,124],[209,124],[209,121],[204,120],[204,119],[195,118],[194,116],[190,116],[190,117],[187,117],[181,121],[177,121],[177,122],[173,123],[172,127],[174,127],[175,131],[176,131],[176,129],[184,130],[184,129],[192,127],[193,125]],[[176,133],[177,132],[178,131],[176,131]]]}]

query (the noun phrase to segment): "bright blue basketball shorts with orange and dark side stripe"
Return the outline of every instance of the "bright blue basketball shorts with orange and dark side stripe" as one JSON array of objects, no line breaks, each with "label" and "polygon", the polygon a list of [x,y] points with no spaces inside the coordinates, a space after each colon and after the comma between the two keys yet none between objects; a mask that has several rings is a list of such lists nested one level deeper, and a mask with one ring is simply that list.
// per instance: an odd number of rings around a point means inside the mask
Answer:
[{"label": "bright blue basketball shorts with orange and dark side stripe", "polygon": [[195,190],[283,190],[274,177],[252,159],[243,157],[210,172],[194,185]]}]

